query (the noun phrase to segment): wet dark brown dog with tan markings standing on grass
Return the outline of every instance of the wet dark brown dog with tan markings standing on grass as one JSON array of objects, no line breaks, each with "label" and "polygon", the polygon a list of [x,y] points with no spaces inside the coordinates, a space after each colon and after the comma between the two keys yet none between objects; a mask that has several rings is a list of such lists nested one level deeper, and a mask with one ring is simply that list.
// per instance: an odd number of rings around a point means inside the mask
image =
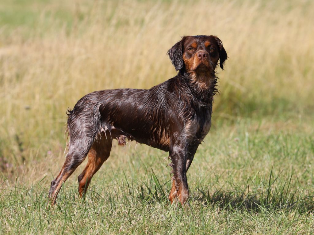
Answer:
[{"label": "wet dark brown dog with tan markings standing on grass", "polygon": [[126,140],[169,152],[173,168],[171,203],[183,205],[188,196],[187,170],[198,145],[211,126],[218,61],[223,69],[227,53],[216,36],[185,36],[168,51],[178,74],[149,90],[95,91],[81,98],[68,113],[70,141],[65,163],[51,182],[49,197],[56,201],[63,182],[84,161],[78,176],[82,196],[93,175],[107,160],[112,140]]}]

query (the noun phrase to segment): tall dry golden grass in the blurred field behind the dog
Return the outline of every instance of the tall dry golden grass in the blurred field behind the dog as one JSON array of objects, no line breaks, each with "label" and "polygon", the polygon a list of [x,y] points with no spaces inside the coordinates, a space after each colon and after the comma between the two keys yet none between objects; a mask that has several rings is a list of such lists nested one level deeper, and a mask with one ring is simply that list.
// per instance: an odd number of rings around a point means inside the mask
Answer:
[{"label": "tall dry golden grass in the blurred field behind the dog", "polygon": [[0,27],[5,164],[43,159],[47,149],[61,155],[65,112],[84,94],[150,88],[175,76],[166,52],[183,35],[218,35],[228,52],[225,71],[218,69],[216,116],[314,110],[313,1],[52,1],[29,8],[38,13],[32,27]]}]

